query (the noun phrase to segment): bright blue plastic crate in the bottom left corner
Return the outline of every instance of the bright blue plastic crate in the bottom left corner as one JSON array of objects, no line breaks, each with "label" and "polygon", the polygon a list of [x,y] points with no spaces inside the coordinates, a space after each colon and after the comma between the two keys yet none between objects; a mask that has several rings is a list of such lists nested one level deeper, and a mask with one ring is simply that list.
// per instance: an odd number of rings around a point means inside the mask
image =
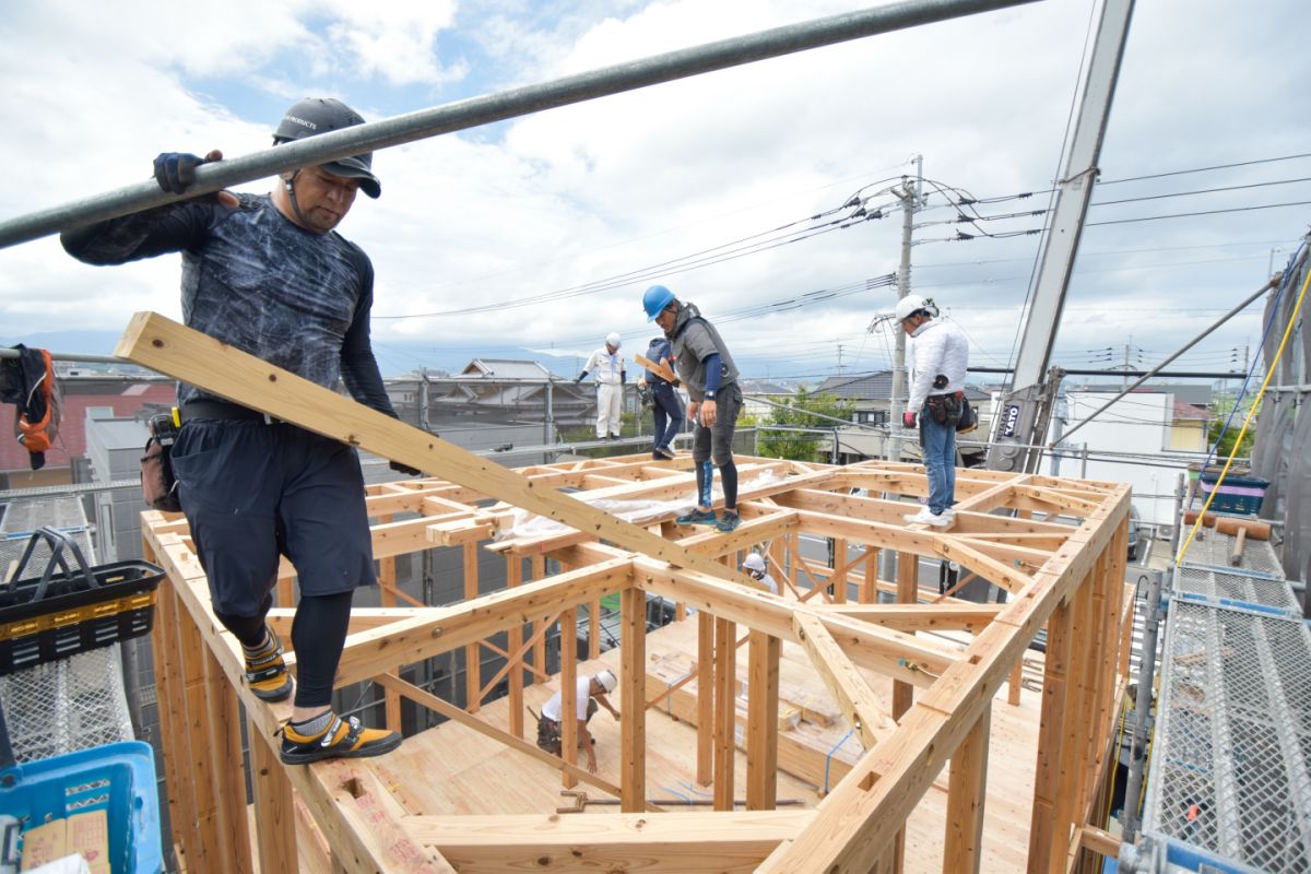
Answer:
[{"label": "bright blue plastic crate in the bottom left corner", "polygon": [[160,874],[159,794],[149,744],[125,740],[0,770],[0,814],[24,831],[104,810],[113,874]]}]

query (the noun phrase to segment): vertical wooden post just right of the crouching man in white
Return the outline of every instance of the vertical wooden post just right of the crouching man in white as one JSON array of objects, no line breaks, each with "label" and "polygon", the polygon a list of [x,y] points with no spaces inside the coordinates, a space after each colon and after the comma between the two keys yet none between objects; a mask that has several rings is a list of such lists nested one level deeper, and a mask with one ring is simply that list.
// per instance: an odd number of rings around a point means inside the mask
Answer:
[{"label": "vertical wooden post just right of the crouching man in white", "polygon": [[620,810],[646,810],[646,592],[629,586],[619,595],[624,624],[620,647]]}]

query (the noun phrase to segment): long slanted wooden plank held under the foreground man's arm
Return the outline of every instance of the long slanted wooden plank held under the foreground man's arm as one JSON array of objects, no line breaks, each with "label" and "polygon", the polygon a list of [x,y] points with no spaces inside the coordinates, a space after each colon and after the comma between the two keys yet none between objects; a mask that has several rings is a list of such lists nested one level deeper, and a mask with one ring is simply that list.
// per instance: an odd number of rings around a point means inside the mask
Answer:
[{"label": "long slanted wooden plank held under the foreground man's arm", "polygon": [[645,528],[555,489],[536,486],[494,460],[479,457],[157,313],[136,313],[114,354],[316,434],[485,491],[627,549],[679,567],[695,567],[721,579],[746,579]]}]

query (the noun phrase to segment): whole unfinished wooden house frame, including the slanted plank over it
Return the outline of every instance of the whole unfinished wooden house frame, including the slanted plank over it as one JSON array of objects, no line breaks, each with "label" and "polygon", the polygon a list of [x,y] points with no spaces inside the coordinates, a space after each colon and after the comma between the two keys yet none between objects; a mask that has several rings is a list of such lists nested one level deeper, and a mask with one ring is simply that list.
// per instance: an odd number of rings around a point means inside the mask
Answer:
[{"label": "whole unfinished wooden house frame, including the slanted plank over it", "polygon": [[[918,465],[739,459],[742,525],[729,535],[687,536],[667,518],[673,514],[640,528],[558,491],[678,498],[692,491],[687,461],[619,459],[510,472],[157,316],[138,317],[118,354],[435,474],[370,489],[384,607],[354,611],[338,683],[372,679],[384,687],[396,726],[405,697],[547,761],[566,786],[581,781],[620,801],[617,814],[433,816],[408,810],[388,790],[370,764],[383,760],[282,767],[274,735],[288,708],[260,702],[243,687],[240,647],[214,620],[185,522],[147,514],[147,552],[169,577],[155,632],[156,676],[173,836],[189,870],[250,871],[257,860],[264,871],[300,865],[461,873],[898,871],[906,862],[899,835],[907,816],[944,767],[943,870],[979,870],[992,701],[1007,680],[1017,693],[1021,659],[1044,626],[1028,869],[1070,870],[1087,848],[1105,848],[1104,833],[1088,823],[1105,791],[1101,776],[1112,757],[1127,667],[1127,486],[962,469],[957,522],[937,531],[903,522],[914,504],[901,498],[927,493]],[[569,527],[514,536],[515,506]],[[802,532],[834,540],[831,563],[818,566],[801,556]],[[766,542],[771,561],[785,569],[777,596],[732,571],[742,550]],[[387,594],[387,580],[395,579],[388,562],[435,545],[464,550],[468,598],[446,607],[389,605],[396,590]],[[469,574],[471,567],[476,574],[471,558],[480,546],[506,556],[505,590],[477,595]],[[880,550],[898,554],[898,579],[877,579]],[[957,562],[962,579],[987,579],[1009,592],[1008,601],[981,605],[943,596],[919,603],[914,573],[920,556]],[[544,577],[547,558],[560,573]],[[526,563],[532,570],[527,582]],[[283,577],[292,574],[287,567]],[[810,586],[798,587],[797,575]],[[595,617],[597,601],[616,592],[625,715],[617,784],[578,768],[568,734],[562,760],[538,750],[523,739],[522,718],[523,683],[541,676],[544,629],[560,622],[568,713],[577,671],[569,645],[576,611],[582,607]],[[675,601],[680,616],[688,608],[697,612],[696,770],[699,782],[713,784],[713,811],[673,812],[648,801],[648,706],[671,692],[646,683],[649,595]],[[881,603],[889,599],[894,603]],[[278,609],[271,618],[286,626],[291,615]],[[746,810],[737,810],[733,798],[738,625],[747,629],[750,677],[742,740]],[[937,629],[971,637],[961,650],[920,634]],[[499,677],[484,683],[469,671],[468,709],[400,679],[404,666],[484,646],[502,630],[510,632],[507,725],[475,713]],[[865,748],[814,810],[773,810],[783,641],[805,647]],[[872,693],[867,671],[893,685],[890,712]],[[239,702],[249,729],[250,818],[236,764]]]}]

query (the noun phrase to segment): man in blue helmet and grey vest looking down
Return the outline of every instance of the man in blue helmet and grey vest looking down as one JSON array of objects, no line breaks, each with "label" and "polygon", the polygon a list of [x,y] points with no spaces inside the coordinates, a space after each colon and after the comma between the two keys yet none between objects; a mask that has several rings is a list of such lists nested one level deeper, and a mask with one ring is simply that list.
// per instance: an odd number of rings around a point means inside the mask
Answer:
[{"label": "man in blue helmet and grey vest looking down", "polygon": [[[734,531],[737,511],[737,465],[733,464],[733,434],[742,411],[738,370],[714,325],[695,304],[682,303],[665,286],[652,286],[642,295],[646,320],[654,321],[670,341],[678,377],[691,398],[687,419],[696,423],[692,463],[696,469],[696,508],[679,516],[680,525],[714,525]],[[714,466],[711,466],[713,461]],[[720,469],[724,515],[714,512],[712,482]]]}]

